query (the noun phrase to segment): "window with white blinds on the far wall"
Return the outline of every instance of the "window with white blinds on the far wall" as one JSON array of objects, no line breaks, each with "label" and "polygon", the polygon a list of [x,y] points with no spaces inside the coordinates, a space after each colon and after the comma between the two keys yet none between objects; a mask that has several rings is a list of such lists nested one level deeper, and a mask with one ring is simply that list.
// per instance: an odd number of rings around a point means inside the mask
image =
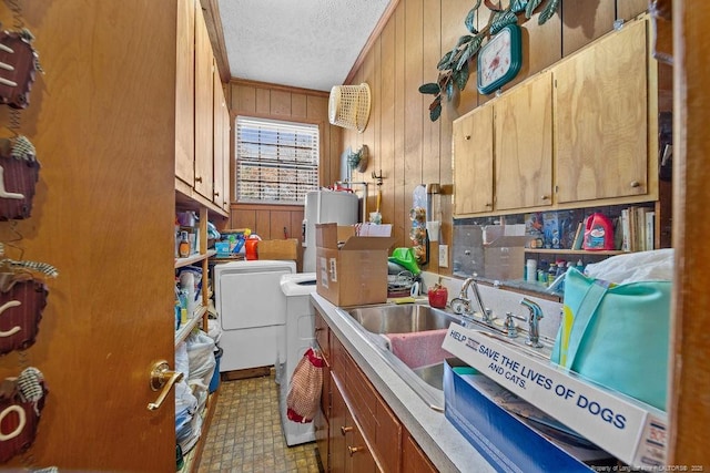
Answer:
[{"label": "window with white blinds on the far wall", "polygon": [[318,188],[318,125],[236,117],[236,200],[302,204]]}]

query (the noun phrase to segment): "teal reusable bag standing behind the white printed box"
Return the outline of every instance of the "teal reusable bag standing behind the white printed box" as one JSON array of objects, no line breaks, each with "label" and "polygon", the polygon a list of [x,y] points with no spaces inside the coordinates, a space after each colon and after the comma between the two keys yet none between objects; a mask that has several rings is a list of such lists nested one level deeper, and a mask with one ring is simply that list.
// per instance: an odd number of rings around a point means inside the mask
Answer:
[{"label": "teal reusable bag standing behind the white printed box", "polygon": [[610,285],[575,268],[550,360],[666,410],[670,281]]}]

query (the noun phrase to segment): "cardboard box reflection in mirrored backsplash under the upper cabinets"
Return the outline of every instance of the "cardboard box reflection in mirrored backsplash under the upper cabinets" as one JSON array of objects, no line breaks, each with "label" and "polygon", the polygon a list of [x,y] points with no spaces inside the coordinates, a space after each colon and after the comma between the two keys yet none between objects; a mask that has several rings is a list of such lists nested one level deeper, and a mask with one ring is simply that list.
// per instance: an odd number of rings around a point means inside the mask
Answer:
[{"label": "cardboard box reflection in mirrored backsplash under the upper cabinets", "polygon": [[523,279],[525,244],[530,236],[500,236],[484,245],[484,276],[486,279]]}]

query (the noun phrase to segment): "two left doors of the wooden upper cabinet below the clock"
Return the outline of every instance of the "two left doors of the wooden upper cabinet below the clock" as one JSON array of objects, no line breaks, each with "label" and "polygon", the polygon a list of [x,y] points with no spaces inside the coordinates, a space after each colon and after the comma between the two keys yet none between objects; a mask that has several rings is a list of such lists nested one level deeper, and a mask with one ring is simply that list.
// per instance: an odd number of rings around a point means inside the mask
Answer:
[{"label": "two left doors of the wooden upper cabinet below the clock", "polygon": [[552,204],[552,74],[454,122],[454,215]]}]

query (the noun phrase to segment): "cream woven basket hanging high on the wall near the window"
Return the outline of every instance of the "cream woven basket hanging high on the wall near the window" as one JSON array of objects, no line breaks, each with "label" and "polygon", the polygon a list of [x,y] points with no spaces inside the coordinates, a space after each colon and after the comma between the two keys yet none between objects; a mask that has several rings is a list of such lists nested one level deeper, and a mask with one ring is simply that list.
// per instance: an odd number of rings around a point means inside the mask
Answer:
[{"label": "cream woven basket hanging high on the wall near the window", "polygon": [[333,125],[363,133],[369,119],[369,86],[335,85],[328,100],[328,119]]}]

